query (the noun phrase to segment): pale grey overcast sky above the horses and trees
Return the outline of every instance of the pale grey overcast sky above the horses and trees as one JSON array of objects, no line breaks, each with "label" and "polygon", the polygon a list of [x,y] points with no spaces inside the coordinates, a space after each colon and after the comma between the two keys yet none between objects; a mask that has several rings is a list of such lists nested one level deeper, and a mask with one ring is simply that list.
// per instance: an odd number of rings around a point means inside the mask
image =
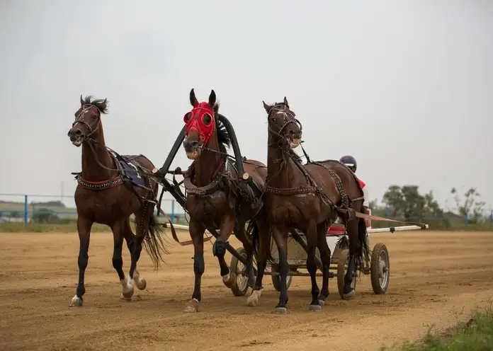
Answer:
[{"label": "pale grey overcast sky above the horses and trees", "polygon": [[195,88],[248,158],[266,162],[262,100],[287,96],[311,158],[356,157],[371,199],[475,186],[489,208],[492,33],[488,0],[2,0],[0,192],[73,194],[81,94],[108,98],[108,146],[162,166]]}]

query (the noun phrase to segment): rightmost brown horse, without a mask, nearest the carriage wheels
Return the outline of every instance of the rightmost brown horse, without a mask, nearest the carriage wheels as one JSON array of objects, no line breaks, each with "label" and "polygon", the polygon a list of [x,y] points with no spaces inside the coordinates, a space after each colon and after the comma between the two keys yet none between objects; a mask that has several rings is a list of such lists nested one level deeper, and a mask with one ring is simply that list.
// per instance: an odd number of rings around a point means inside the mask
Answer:
[{"label": "rightmost brown horse, without a mask, nearest the carriage wheels", "polygon": [[[290,110],[288,100],[283,103],[267,105],[263,103],[268,118],[268,161],[267,188],[264,207],[268,212],[268,223],[279,252],[280,297],[276,313],[287,313],[288,293],[286,277],[288,275],[288,232],[299,229],[307,239],[307,270],[312,281],[312,300],[310,311],[322,311],[322,305],[329,295],[329,265],[331,252],[327,246],[327,228],[337,217],[341,217],[349,238],[348,271],[344,277],[346,299],[354,296],[351,287],[353,272],[368,255],[365,242],[364,219],[355,217],[355,210],[363,212],[363,190],[356,175],[339,161],[308,161],[302,165],[301,159],[293,149],[300,145],[302,130],[295,113]],[[352,200],[351,200],[352,199]],[[269,238],[253,231],[254,245],[259,238],[259,253],[254,292],[250,300],[258,299],[261,287],[261,266],[266,260],[272,260],[266,248]],[[323,265],[322,292],[316,280],[315,248],[319,249]]]}]

